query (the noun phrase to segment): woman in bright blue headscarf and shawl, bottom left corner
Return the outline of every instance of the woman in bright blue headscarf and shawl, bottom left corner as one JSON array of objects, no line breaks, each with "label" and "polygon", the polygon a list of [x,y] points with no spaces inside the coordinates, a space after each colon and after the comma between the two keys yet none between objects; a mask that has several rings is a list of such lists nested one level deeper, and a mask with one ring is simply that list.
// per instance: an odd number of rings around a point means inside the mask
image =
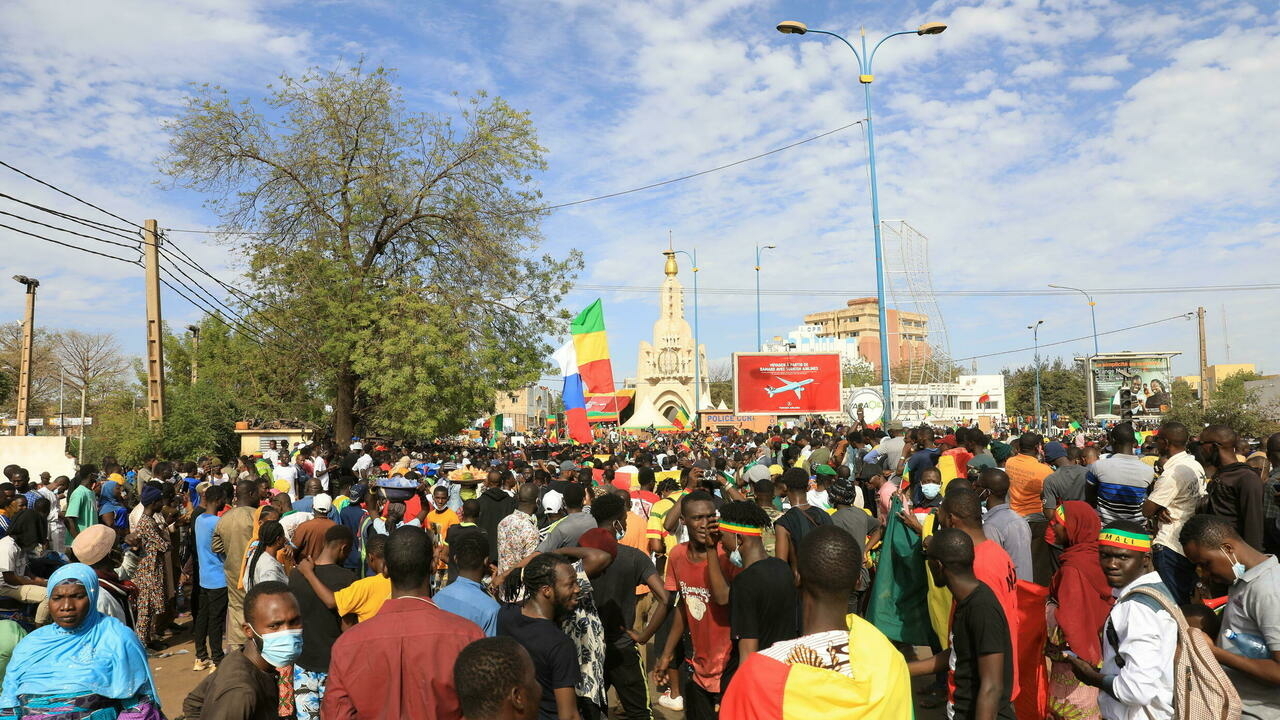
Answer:
[{"label": "woman in bright blue headscarf and shawl, bottom left corner", "polygon": [[115,618],[97,611],[97,575],[81,562],[49,578],[54,623],[13,652],[0,719],[161,720],[147,653]]}]

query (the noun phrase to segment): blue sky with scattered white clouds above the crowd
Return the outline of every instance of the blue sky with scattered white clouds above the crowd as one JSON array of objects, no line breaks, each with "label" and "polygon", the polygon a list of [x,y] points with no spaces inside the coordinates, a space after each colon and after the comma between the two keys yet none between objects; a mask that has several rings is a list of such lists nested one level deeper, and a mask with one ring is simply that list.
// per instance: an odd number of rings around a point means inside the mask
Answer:
[{"label": "blue sky with scattered white clouds above the crowd", "polygon": [[[548,202],[566,202],[863,118],[849,50],[822,36],[780,35],[773,27],[782,19],[851,38],[859,26],[878,38],[928,20],[950,24],[941,36],[887,42],[876,58],[873,101],[882,217],[929,238],[952,356],[1029,346],[1025,327],[1037,319],[1046,320],[1044,342],[1089,333],[1080,296],[961,291],[1276,281],[1280,12],[1266,0],[10,1],[0,6],[0,160],[131,220],[214,227],[202,199],[163,188],[154,165],[166,147],[161,122],[178,111],[188,83],[259,99],[282,72],[365,56],[397,68],[410,106],[421,111],[453,113],[451,92],[477,90],[531,110],[549,149],[540,188]],[[544,223],[545,247],[577,247],[586,258],[584,287],[568,307],[604,297],[621,378],[652,333],[657,296],[602,286],[657,288],[668,232],[678,249],[698,251],[708,290],[701,334],[713,359],[754,350],[756,245],[778,246],[760,278],[765,337],[805,313],[873,293],[865,158],[854,126],[724,172],[557,211]],[[100,217],[3,168],[0,192]],[[20,206],[0,199],[0,210]],[[172,237],[236,278],[209,236]],[[142,351],[138,268],[4,228],[0,249],[0,278],[41,279],[41,324],[111,331],[128,351]],[[687,263],[681,275],[691,286]],[[20,318],[22,290],[0,283],[0,320]],[[1100,293],[1098,329],[1204,305],[1211,363],[1226,361],[1228,340],[1230,360],[1276,372],[1276,290]],[[164,307],[172,327],[198,316],[169,291]],[[1101,345],[1180,351],[1175,370],[1194,373],[1194,322],[1116,333]],[[1047,354],[1091,347],[1085,340]],[[1030,356],[984,357],[978,368],[996,372]]]}]

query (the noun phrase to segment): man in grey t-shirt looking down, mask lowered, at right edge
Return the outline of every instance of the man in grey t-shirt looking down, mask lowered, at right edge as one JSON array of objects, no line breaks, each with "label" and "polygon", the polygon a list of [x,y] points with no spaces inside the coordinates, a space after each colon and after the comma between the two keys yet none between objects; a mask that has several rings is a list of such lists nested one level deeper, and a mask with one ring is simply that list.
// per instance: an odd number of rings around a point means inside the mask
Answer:
[{"label": "man in grey t-shirt looking down, mask lowered, at right edge", "polygon": [[1280,717],[1280,564],[1225,518],[1196,515],[1179,541],[1188,560],[1230,585],[1213,657],[1240,693],[1244,717]]}]

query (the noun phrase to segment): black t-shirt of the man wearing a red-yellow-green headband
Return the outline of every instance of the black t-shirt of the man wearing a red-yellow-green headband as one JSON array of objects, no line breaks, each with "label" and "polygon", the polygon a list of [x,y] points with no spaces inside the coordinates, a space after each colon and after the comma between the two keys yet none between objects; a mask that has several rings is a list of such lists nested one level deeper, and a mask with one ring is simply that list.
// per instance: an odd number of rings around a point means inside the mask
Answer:
[{"label": "black t-shirt of the man wearing a red-yellow-green headband", "polygon": [[727,687],[741,661],[737,641],[754,638],[760,642],[759,650],[765,650],[800,637],[800,597],[791,565],[777,557],[748,565],[728,587],[728,618],[733,648],[721,687]]}]

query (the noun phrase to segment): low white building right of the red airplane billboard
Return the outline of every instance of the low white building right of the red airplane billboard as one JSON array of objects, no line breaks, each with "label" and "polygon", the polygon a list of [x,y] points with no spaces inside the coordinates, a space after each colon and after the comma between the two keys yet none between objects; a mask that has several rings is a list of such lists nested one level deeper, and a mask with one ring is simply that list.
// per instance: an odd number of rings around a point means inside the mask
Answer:
[{"label": "low white building right of the red airplane billboard", "polygon": [[[960,375],[954,383],[895,384],[893,419],[906,425],[929,421],[931,424],[973,424],[979,418],[992,419],[1005,415],[1005,377]],[[856,415],[863,406],[863,416],[868,423],[879,421],[879,387],[845,388],[845,407],[850,416]]]}]

